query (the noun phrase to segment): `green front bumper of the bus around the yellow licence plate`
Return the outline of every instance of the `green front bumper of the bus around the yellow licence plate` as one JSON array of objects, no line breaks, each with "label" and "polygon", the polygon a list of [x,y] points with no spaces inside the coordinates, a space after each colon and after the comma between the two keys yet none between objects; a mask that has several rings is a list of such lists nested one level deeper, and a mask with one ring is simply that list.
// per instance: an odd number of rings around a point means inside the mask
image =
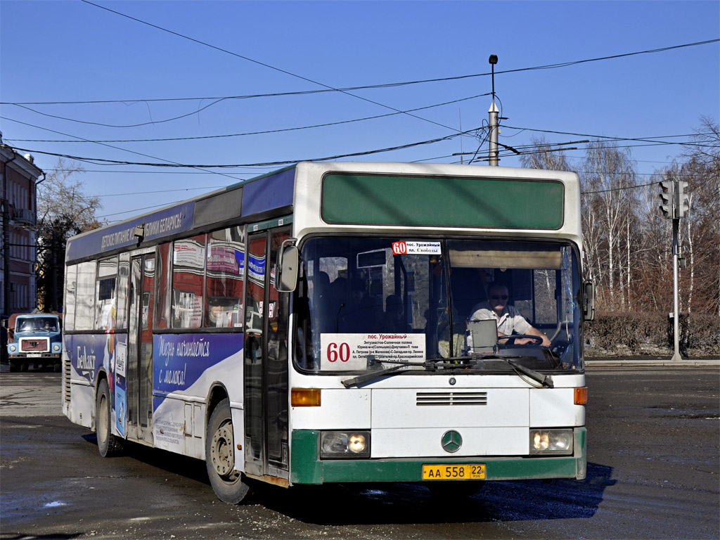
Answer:
[{"label": "green front bumper of the bus around the yellow licence plate", "polygon": [[484,463],[487,480],[534,480],[585,477],[585,428],[576,428],[580,456],[479,459],[318,459],[319,431],[292,432],[290,480],[294,484],[325,482],[422,482],[423,464]]}]

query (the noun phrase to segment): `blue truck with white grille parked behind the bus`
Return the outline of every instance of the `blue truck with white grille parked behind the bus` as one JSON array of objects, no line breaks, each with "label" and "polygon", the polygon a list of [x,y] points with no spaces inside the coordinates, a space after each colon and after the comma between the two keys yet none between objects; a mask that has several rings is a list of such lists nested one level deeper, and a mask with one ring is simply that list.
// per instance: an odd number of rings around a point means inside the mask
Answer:
[{"label": "blue truck with white grille parked behind the bus", "polygon": [[52,366],[63,361],[62,318],[57,313],[16,313],[7,320],[7,358],[11,372]]}]

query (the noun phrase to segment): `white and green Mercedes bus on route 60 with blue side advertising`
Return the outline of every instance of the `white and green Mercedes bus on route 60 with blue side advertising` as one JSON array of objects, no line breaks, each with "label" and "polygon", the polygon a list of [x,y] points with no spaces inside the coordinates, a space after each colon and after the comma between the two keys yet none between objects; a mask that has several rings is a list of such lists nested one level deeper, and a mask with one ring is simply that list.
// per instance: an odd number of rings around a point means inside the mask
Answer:
[{"label": "white and green Mercedes bus on route 60 with blue side advertising", "polygon": [[575,174],[303,162],[66,253],[63,411],[104,456],[204,459],[228,503],[585,477]]}]

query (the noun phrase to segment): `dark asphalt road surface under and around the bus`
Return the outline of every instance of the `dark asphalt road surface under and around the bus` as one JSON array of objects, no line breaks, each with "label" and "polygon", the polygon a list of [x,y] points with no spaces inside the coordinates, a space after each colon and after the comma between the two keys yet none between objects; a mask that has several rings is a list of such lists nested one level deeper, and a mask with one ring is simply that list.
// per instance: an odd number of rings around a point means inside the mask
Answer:
[{"label": "dark asphalt road surface under and around the bus", "polygon": [[0,539],[719,539],[720,364],[588,369],[588,478],[425,488],[265,488],[220,503],[204,464],[99,456],[60,374],[0,373]]}]

